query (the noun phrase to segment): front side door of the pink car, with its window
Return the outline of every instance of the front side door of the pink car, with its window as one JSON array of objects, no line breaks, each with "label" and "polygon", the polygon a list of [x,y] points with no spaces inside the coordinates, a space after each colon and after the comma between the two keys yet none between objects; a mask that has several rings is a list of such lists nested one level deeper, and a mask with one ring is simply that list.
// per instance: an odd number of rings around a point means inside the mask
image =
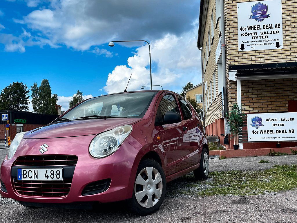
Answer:
[{"label": "front side door of the pink car, with its window", "polygon": [[[174,111],[181,114],[173,94],[165,95],[159,102],[157,109],[157,119],[159,119],[159,122],[162,123],[164,116],[168,111]],[[188,126],[184,120],[181,120],[178,123],[160,126],[162,146],[165,152],[166,176],[184,170],[187,166],[187,162],[183,160],[183,157],[187,154],[187,147],[189,146],[189,142],[185,137],[187,129]]]}]

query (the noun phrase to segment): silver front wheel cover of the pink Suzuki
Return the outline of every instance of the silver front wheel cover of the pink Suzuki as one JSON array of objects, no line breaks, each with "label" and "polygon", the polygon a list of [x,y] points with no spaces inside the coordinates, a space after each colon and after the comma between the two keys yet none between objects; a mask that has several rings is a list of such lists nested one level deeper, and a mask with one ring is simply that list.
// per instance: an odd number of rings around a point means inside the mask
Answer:
[{"label": "silver front wheel cover of the pink Suzuki", "polygon": [[146,167],[136,177],[134,193],[137,202],[145,207],[151,208],[161,198],[163,189],[162,177],[153,167]]}]

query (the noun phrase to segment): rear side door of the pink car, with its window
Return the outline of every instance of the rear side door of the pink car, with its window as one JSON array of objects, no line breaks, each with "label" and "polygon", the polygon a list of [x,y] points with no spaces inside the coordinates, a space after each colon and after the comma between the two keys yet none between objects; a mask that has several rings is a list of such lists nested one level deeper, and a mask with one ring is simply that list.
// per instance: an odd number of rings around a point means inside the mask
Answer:
[{"label": "rear side door of the pink car, with its window", "polygon": [[200,161],[201,151],[199,149],[199,142],[202,140],[200,120],[196,116],[192,106],[184,98],[179,97],[178,103],[181,107],[184,120],[188,125],[187,138],[189,139],[189,147],[187,151],[189,151],[189,165],[193,166]]}]

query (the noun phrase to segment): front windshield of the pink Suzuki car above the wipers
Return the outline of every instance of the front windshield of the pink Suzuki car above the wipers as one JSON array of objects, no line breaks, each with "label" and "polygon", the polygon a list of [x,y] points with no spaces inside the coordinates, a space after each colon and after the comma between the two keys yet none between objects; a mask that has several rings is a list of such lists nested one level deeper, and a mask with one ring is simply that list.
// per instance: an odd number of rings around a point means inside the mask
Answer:
[{"label": "front windshield of the pink Suzuki car above the wipers", "polygon": [[132,92],[91,98],[67,112],[63,120],[86,116],[142,118],[156,92]]}]

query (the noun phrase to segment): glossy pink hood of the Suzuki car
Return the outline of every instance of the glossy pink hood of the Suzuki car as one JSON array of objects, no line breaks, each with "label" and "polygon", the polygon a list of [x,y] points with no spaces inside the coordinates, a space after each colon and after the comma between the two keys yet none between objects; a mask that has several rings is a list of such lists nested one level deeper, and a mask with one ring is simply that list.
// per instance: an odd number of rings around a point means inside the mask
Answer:
[{"label": "glossy pink hood of the Suzuki car", "polygon": [[58,122],[29,131],[24,138],[62,138],[96,135],[121,125],[132,125],[138,118],[91,119]]}]

